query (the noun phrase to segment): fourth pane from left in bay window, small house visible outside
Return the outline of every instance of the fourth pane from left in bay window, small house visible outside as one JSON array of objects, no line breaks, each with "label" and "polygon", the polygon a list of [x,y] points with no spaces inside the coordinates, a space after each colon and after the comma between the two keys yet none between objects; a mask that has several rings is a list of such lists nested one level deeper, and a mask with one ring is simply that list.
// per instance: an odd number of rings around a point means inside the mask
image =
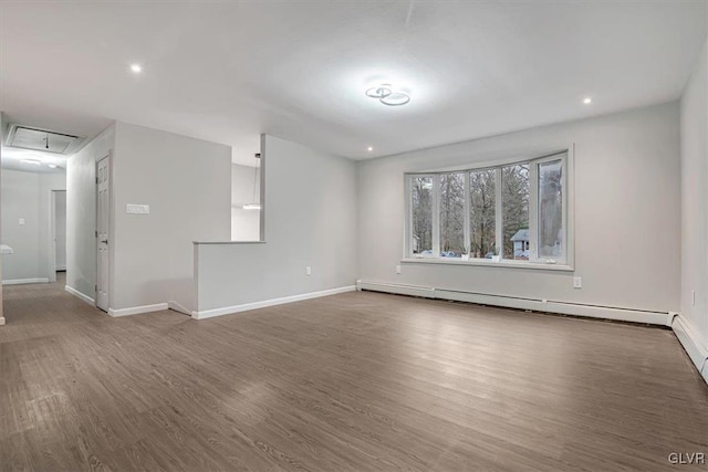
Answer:
[{"label": "fourth pane from left in bay window, small house visible outside", "polygon": [[501,169],[501,207],[504,227],[503,256],[529,260],[529,165]]}]

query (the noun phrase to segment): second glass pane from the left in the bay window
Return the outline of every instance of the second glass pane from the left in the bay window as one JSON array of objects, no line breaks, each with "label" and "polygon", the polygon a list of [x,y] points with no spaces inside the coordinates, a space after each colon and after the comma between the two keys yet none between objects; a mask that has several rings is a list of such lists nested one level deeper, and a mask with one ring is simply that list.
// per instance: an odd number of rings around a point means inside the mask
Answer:
[{"label": "second glass pane from the left in the bay window", "polygon": [[459,258],[465,251],[465,175],[440,176],[440,256]]}]

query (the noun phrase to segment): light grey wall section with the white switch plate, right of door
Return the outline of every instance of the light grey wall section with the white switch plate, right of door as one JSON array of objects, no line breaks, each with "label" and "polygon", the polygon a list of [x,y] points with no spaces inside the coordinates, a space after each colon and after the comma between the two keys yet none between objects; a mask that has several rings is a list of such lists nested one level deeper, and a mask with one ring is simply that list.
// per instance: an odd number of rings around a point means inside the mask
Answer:
[{"label": "light grey wall section with the white switch plate, right of door", "polygon": [[231,237],[231,148],[118,122],[113,197],[111,307],[191,308],[192,241]]}]

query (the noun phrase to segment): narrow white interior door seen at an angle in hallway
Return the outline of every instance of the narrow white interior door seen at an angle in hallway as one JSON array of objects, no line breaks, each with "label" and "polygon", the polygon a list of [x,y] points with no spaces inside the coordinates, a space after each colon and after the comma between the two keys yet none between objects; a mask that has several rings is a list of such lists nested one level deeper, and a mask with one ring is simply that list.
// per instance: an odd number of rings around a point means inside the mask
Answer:
[{"label": "narrow white interior door seen at an angle in hallway", "polygon": [[111,195],[111,157],[98,161],[96,169],[96,306],[108,311],[108,225]]}]

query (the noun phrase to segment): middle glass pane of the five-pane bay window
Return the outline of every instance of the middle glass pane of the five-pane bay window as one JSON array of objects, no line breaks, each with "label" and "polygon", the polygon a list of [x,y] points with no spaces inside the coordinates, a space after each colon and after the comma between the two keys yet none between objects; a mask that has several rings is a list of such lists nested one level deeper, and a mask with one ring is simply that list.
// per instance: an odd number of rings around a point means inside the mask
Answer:
[{"label": "middle glass pane of the five-pane bay window", "polygon": [[490,259],[494,251],[497,170],[469,172],[470,258]]}]

